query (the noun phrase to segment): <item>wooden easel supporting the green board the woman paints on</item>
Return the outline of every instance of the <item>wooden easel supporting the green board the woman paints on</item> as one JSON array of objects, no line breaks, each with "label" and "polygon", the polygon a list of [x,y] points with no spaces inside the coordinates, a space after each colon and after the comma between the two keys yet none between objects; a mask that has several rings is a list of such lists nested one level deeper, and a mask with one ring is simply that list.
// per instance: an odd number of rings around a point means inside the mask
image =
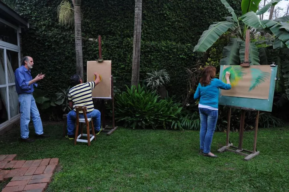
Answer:
[{"label": "wooden easel supporting the green board the woman paints on", "polygon": [[[241,63],[240,65],[242,67],[250,67],[250,63],[249,63],[249,43],[250,43],[250,30],[246,31],[246,40],[245,40],[245,60],[243,63]],[[239,155],[243,155],[246,156],[244,159],[245,160],[250,160],[253,157],[259,155],[260,151],[256,150],[256,144],[257,144],[257,132],[258,132],[258,124],[259,124],[259,114],[260,111],[259,110],[255,110],[252,108],[242,108],[242,107],[235,107],[235,106],[228,106],[229,107],[229,111],[228,111],[228,125],[227,125],[227,136],[226,136],[226,146],[221,147],[220,149],[218,149],[219,152],[224,152],[224,151],[230,151],[230,152],[235,152]],[[237,108],[237,109],[241,109],[241,117],[240,117],[240,131],[239,131],[239,144],[238,147],[233,146],[232,143],[229,143],[229,132],[230,132],[230,121],[231,121],[231,108]],[[255,122],[255,136],[254,136],[254,145],[253,145],[253,151],[249,151],[246,149],[243,149],[243,133],[244,133],[244,125],[245,125],[245,110],[248,111],[257,111],[257,116],[256,116],[256,122]],[[233,149],[229,149],[229,148],[234,148],[236,150]],[[243,153],[243,152],[247,152],[247,153]]]}]

